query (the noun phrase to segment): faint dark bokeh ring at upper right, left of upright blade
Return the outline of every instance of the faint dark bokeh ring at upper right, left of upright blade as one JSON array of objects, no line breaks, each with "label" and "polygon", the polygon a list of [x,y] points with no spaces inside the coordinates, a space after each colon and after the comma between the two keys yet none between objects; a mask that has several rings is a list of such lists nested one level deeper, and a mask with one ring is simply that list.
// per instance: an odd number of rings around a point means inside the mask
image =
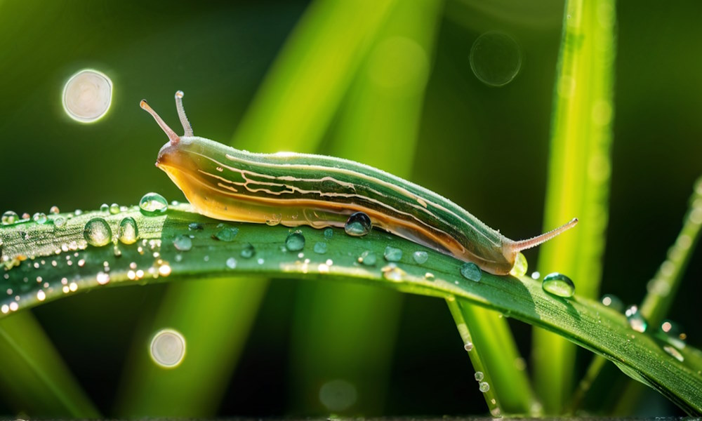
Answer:
[{"label": "faint dark bokeh ring at upper right, left of upright blade", "polygon": [[470,48],[470,69],[488,86],[510,83],[522,67],[522,52],[517,41],[502,32],[486,32]]}]

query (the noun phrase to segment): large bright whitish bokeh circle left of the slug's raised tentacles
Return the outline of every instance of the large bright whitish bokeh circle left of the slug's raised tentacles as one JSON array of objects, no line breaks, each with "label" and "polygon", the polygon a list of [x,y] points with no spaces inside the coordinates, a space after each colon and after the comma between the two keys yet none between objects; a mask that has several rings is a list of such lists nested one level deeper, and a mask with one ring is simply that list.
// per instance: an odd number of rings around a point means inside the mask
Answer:
[{"label": "large bright whitish bokeh circle left of the slug's raised tentacles", "polygon": [[63,109],[81,123],[93,123],[107,114],[112,103],[112,81],[106,74],[83,69],[63,87]]}]

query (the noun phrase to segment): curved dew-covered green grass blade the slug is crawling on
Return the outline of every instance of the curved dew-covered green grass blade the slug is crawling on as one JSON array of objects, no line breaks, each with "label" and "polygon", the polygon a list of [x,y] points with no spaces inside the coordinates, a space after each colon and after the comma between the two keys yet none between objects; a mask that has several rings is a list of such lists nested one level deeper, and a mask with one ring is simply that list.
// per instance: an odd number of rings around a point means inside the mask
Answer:
[{"label": "curved dew-covered green grass blade the slug is crawling on", "polygon": [[[142,240],[118,244],[119,257],[113,246],[87,246],[83,228],[96,215],[105,218],[113,231],[122,218],[131,216],[137,221]],[[300,258],[300,252],[284,247],[289,234],[286,227],[225,224],[239,229],[237,240],[217,241],[212,235],[221,229],[220,221],[197,215],[186,205],[173,206],[155,217],[141,215],[137,208],[117,215],[86,213],[73,216],[61,228],[55,227],[54,218],[45,225],[27,222],[0,228],[3,253],[8,257],[6,267],[11,267],[3,274],[4,284],[20,297],[0,300],[0,316],[94,288],[241,275],[351,281],[440,298],[454,295],[457,300],[509,313],[514,319],[558,333],[614,361],[628,375],[644,380],[688,413],[702,413],[702,359],[696,349],[685,347],[678,359],[665,352],[661,340],[632,330],[622,314],[578,295],[571,300],[548,295],[541,283],[527,277],[485,273],[479,282],[468,281],[460,274],[463,262],[429,249],[425,249],[429,258],[421,265],[359,265],[357,258],[364,250],[381,255],[388,244],[403,253],[420,248],[383,232],[373,230],[358,238],[337,229],[327,253],[315,255],[310,253],[310,245],[323,241],[324,234],[303,227],[307,246]],[[203,229],[194,234],[192,249],[180,252],[173,246],[173,239],[190,234],[188,225],[192,222]],[[237,261],[234,269],[227,265],[230,258]],[[76,260],[84,260],[84,264],[77,265]],[[428,273],[432,276],[426,276]],[[42,276],[48,287],[29,282],[37,276]]]}]

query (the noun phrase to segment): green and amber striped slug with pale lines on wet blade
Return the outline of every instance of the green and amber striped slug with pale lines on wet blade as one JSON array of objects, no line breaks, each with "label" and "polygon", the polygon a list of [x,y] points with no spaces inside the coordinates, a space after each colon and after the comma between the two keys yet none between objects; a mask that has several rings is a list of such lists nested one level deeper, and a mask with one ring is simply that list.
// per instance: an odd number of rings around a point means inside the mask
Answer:
[{"label": "green and amber striped slug with pale lines on wet blade", "polygon": [[146,101],[140,106],[168,135],[156,165],[199,213],[211,218],[322,228],[343,227],[350,214],[363,212],[376,227],[498,275],[510,272],[520,250],[578,222],[512,241],[449,199],[362,163],[291,152],[255,154],[194,136],[182,98],[178,91],[183,136]]}]

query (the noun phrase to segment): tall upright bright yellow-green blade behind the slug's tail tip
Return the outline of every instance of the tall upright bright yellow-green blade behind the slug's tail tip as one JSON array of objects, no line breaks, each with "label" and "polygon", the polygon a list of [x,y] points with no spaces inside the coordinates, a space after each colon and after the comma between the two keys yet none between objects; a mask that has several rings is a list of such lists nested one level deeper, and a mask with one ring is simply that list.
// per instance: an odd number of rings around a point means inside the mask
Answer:
[{"label": "tall upright bright yellow-green blade behind the slug's tail tip", "polygon": [[[578,217],[578,228],[541,247],[539,272],[568,274],[595,298],[607,227],[614,83],[614,0],[569,0],[552,116],[545,227]],[[534,330],[534,377],[545,412],[560,413],[573,388],[575,347]]]}]

